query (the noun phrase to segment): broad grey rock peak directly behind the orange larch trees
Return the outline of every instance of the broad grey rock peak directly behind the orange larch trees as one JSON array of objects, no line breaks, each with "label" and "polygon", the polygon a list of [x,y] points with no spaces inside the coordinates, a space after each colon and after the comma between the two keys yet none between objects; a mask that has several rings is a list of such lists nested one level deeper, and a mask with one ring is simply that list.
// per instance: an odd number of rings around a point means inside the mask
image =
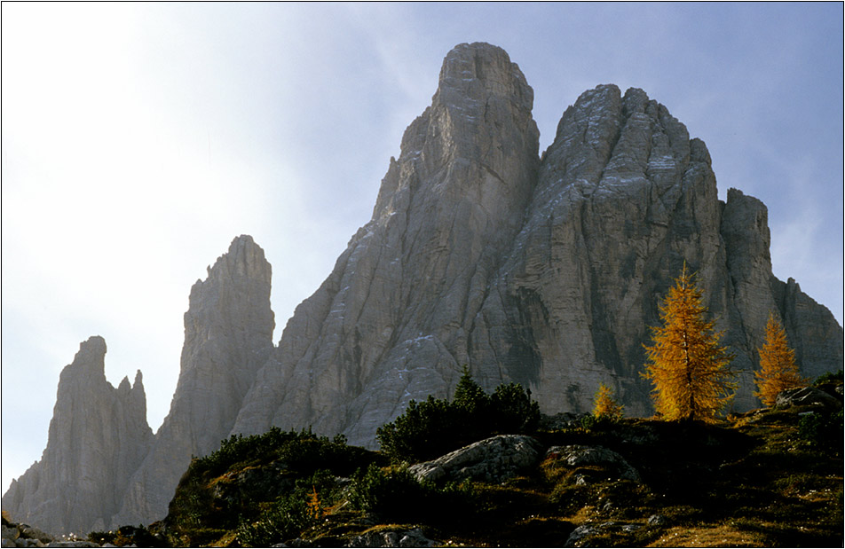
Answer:
[{"label": "broad grey rock peak directly behind the orange larch trees", "polygon": [[[718,200],[706,145],[666,107],[642,90],[589,90],[543,155],[525,225],[472,333],[473,371],[488,388],[522,382],[545,412],[588,412],[604,382],[628,413],[652,413],[643,343],[687,263],[736,353],[733,404],[747,410],[758,405],[753,370],[769,313],[795,314],[778,297],[769,246],[765,206],[735,189]],[[802,363],[818,375],[841,362],[842,331],[825,308],[807,310],[812,320],[789,335],[825,349]]]}]

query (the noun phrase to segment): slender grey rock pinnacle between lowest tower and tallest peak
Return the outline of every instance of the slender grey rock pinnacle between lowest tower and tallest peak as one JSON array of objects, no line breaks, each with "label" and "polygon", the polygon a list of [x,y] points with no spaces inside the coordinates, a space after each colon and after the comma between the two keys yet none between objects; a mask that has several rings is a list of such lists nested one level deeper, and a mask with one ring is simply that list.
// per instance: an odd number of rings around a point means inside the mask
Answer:
[{"label": "slender grey rock pinnacle between lowest tower and tallest peak", "polygon": [[272,349],[270,263],[249,236],[191,288],[185,344],[170,413],[143,464],[131,476],[115,524],[161,519],[191,456],[227,438],[241,401]]}]

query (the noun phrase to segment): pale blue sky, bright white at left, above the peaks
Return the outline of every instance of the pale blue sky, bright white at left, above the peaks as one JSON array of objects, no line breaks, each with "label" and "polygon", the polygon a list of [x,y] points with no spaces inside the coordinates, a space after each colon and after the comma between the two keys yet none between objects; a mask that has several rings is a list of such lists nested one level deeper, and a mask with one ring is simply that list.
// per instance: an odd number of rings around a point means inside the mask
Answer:
[{"label": "pale blue sky, bright white at left, above the peaks", "polygon": [[188,295],[232,239],[272,264],[274,340],[372,215],[446,53],[488,42],[541,151],[581,92],[636,87],[769,208],[778,278],[843,318],[843,6],[2,4],[2,474],[47,443],[61,369],[107,341],[156,430]]}]

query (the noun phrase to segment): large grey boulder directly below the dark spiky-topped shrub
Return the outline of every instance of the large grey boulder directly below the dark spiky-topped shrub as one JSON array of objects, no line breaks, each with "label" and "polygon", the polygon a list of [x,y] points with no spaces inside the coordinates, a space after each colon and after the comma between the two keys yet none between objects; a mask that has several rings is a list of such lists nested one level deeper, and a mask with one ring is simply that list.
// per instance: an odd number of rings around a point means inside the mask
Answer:
[{"label": "large grey boulder directly below the dark spiky-topped shrub", "polygon": [[499,483],[523,473],[540,459],[540,443],[531,436],[498,435],[445,456],[408,467],[420,481]]}]

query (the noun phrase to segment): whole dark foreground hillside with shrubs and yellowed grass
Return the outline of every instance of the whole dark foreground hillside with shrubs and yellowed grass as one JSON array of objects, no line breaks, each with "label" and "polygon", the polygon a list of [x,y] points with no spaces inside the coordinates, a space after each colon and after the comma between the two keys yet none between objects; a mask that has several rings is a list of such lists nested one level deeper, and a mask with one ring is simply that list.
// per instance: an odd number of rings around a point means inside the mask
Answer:
[{"label": "whole dark foreground hillside with shrubs and yellowed grass", "polygon": [[[841,374],[817,386],[841,398]],[[709,425],[547,417],[533,439],[538,459],[503,482],[435,484],[395,455],[339,437],[279,429],[233,437],[193,460],[164,521],[90,537],[115,545],[842,545],[841,405],[766,408]]]}]

